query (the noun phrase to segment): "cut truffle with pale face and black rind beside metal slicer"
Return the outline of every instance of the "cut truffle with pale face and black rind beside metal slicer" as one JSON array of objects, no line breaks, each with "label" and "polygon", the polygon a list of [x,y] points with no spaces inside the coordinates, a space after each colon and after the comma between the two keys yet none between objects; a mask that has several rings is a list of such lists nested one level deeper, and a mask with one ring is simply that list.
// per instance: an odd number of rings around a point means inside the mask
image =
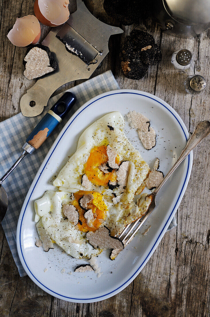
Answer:
[{"label": "cut truffle with pale face and black rind beside metal slicer", "polygon": [[34,45],[27,50],[23,65],[25,67],[23,74],[28,80],[54,72],[57,67],[50,49],[40,44]]}]

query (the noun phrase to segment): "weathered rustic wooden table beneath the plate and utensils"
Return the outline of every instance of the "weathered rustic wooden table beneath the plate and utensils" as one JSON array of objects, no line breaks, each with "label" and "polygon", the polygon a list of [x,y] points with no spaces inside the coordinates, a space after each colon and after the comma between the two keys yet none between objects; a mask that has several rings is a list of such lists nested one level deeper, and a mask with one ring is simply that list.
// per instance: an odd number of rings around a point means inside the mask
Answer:
[{"label": "weathered rustic wooden table beneath the plate and utensils", "polygon": [[[1,90],[0,118],[20,112],[19,100],[33,85],[23,76],[25,48],[13,46],[6,35],[16,17],[33,14],[34,0],[1,1]],[[88,9],[105,23],[120,26],[103,10],[103,0],[86,0]],[[162,51],[159,66],[149,68],[139,81],[125,78],[120,70],[119,47],[136,27],[121,26],[122,36],[110,39],[110,53],[93,75],[111,69],[120,88],[139,89],[162,98],[181,116],[192,133],[196,123],[210,118],[210,85],[194,97],[183,87],[188,74],[210,79],[210,30],[192,39],[162,33],[153,19],[141,27],[155,37]],[[49,28],[42,27],[42,37]],[[171,65],[171,55],[180,48],[193,52],[187,71]],[[71,82],[60,91],[77,85]],[[98,303],[75,304],[45,293],[27,276],[20,278],[2,228],[0,229],[0,316],[210,316],[210,217],[209,138],[194,150],[191,177],[177,210],[177,227],[167,232],[153,256],[135,280],[121,293]]]}]

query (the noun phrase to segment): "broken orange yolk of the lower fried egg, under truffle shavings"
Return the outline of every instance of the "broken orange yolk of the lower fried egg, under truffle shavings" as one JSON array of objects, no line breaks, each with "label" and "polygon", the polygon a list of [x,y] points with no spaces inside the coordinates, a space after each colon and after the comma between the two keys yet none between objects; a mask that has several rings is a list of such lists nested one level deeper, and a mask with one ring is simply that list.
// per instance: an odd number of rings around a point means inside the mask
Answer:
[{"label": "broken orange yolk of the lower fried egg, under truffle shavings", "polygon": [[[87,204],[87,209],[92,209],[93,211],[93,227],[89,227],[87,225],[87,221],[84,217],[86,210],[82,209],[79,205],[79,199],[84,194],[92,194],[94,197],[93,200]],[[106,219],[106,211],[108,210],[103,201],[102,195],[95,191],[77,191],[74,193],[74,197],[75,199],[73,200],[72,205],[74,205],[79,212],[79,223],[77,224],[77,228],[83,232],[96,231],[99,229],[103,223],[102,220]]]}]

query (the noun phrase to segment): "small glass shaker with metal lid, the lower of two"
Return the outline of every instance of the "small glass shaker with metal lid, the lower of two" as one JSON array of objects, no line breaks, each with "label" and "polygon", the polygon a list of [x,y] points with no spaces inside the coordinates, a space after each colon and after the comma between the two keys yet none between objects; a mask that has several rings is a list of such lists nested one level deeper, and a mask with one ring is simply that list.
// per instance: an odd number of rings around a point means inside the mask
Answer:
[{"label": "small glass shaker with metal lid, the lower of two", "polygon": [[200,94],[206,87],[206,80],[201,75],[188,76],[184,82],[186,92],[192,96]]}]

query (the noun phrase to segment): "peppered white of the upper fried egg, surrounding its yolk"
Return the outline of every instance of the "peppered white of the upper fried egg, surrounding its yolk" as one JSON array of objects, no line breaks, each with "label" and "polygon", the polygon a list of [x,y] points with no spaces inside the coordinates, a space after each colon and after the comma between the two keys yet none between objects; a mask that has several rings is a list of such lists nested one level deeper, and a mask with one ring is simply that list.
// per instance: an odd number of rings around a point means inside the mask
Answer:
[{"label": "peppered white of the upper fried egg, surrounding its yolk", "polygon": [[[114,130],[110,131],[112,126]],[[125,121],[119,112],[108,113],[101,119],[95,121],[81,135],[78,141],[76,152],[71,156],[63,169],[59,172],[53,185],[59,187],[60,191],[76,192],[86,190],[81,185],[81,177],[84,174],[85,163],[90,155],[90,151],[95,146],[109,144],[117,150],[121,161],[130,161],[129,177],[126,191],[121,197],[124,204],[133,201],[136,190],[141,186],[149,171],[149,165],[143,160],[141,154],[129,142],[125,136],[123,127]],[[107,187],[92,185],[90,190],[103,192],[111,195]]]}]

